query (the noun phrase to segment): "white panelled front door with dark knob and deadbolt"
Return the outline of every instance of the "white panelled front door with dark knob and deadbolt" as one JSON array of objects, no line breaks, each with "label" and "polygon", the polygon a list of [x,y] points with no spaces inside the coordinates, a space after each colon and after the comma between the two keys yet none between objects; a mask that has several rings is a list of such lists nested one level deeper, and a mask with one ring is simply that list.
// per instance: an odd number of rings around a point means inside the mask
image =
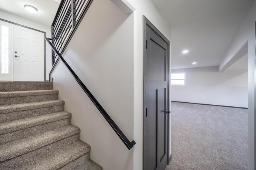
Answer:
[{"label": "white panelled front door with dark knob and deadbolt", "polygon": [[13,80],[44,81],[44,33],[13,25]]}]

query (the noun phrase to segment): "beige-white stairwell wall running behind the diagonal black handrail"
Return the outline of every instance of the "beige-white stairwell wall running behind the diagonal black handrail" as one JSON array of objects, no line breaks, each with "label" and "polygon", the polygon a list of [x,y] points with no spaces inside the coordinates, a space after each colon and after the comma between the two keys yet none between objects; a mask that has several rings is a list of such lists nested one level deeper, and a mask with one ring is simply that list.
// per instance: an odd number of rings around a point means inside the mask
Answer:
[{"label": "beige-white stairwell wall running behind the diagonal black handrail", "polygon": [[[110,0],[94,0],[64,52],[64,59],[130,139],[134,135],[133,14]],[[104,170],[132,170],[128,150],[62,62],[52,77],[80,139],[91,146],[91,159]]]}]

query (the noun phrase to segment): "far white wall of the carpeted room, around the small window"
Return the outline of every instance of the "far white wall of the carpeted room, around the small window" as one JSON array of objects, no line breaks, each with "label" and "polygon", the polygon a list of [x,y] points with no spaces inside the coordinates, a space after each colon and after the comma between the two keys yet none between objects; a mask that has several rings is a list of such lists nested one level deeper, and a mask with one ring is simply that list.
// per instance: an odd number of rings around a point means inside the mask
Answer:
[{"label": "far white wall of the carpeted room, around the small window", "polygon": [[185,73],[185,85],[172,85],[172,101],[248,107],[247,69],[218,72],[218,66],[210,66],[172,73]]}]

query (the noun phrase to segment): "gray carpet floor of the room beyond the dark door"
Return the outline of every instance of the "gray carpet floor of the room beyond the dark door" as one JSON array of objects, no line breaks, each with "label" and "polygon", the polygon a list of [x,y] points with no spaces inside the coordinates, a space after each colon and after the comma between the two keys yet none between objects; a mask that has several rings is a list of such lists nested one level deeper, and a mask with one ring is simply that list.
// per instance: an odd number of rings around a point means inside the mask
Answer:
[{"label": "gray carpet floor of the room beyond the dark door", "polygon": [[245,170],[248,110],[172,102],[172,160],[166,170]]}]

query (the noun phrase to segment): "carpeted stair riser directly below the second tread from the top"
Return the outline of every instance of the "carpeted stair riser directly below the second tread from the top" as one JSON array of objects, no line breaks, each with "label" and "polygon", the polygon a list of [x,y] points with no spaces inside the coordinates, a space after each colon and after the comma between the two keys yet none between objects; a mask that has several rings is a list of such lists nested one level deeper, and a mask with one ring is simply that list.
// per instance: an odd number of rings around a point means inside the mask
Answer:
[{"label": "carpeted stair riser directly below the second tread from the top", "polygon": [[64,111],[64,105],[0,114],[0,123]]}]

